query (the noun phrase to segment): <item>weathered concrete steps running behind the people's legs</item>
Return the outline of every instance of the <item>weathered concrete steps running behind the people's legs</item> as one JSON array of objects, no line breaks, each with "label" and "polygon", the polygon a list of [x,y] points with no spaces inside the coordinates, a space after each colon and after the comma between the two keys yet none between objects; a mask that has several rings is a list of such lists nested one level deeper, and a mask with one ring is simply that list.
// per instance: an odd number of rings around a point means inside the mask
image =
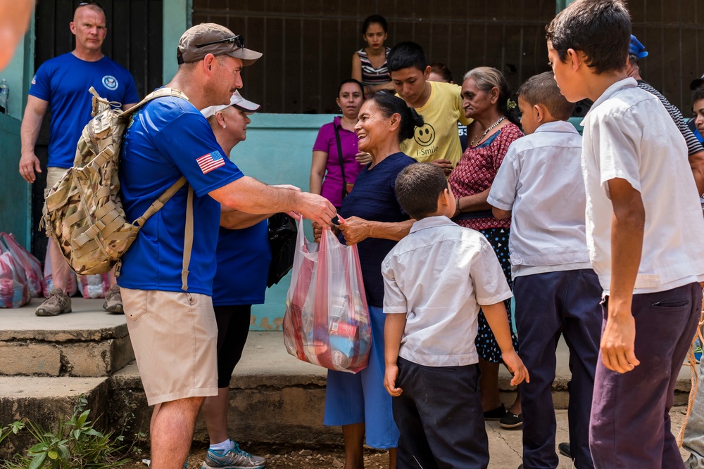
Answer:
[{"label": "weathered concrete steps running behind the people's legs", "polygon": [[[20,418],[49,426],[70,415],[84,394],[91,419],[129,438],[149,430],[151,409],[134,363],[125,316],[107,314],[103,300],[73,298],[73,312],[56,317],[34,316],[34,299],[20,309],[0,310],[0,427]],[[558,347],[553,383],[555,408],[567,406],[570,372],[564,342]],[[251,332],[230,382],[229,426],[242,442],[306,447],[341,444],[339,428],[322,425],[325,409],[324,368],[287,354],[281,332]],[[675,404],[684,405],[690,389],[689,367],[683,366]],[[515,394],[503,368],[502,399]],[[24,437],[0,445],[0,457],[27,447]],[[207,439],[202,421],[196,441]]]}]

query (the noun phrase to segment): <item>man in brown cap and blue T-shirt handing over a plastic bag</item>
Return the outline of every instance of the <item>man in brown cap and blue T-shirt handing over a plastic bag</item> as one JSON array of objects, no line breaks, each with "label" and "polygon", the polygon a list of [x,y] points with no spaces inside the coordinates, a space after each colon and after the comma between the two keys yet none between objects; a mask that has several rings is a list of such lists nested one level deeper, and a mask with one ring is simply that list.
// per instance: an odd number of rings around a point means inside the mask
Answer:
[{"label": "man in brown cap and blue T-shirt handing over a plastic bag", "polygon": [[[213,302],[220,210],[296,211],[329,224],[335,208],[320,195],[267,186],[244,176],[215,140],[200,110],[230,103],[244,66],[261,53],[226,27],[191,27],[178,44],[179,68],[167,96],[134,114],[120,154],[122,205],[135,219],[181,176],[193,191],[193,243],[184,267],[189,188],[146,221],[122,257],[118,278],[127,328],[149,405],[151,468],[182,468],[203,399],[218,394],[218,335]],[[187,286],[186,282],[187,281]],[[235,446],[233,460],[241,461]],[[246,459],[246,458],[244,458]],[[230,465],[228,467],[234,467]],[[237,467],[261,468],[249,461]]]}]

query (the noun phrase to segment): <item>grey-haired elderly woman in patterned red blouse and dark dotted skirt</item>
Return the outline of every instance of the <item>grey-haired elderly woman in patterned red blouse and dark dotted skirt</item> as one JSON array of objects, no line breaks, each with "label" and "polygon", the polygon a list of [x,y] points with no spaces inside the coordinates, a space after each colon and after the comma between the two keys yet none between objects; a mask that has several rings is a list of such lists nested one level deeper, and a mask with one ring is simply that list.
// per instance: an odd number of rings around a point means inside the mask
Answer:
[{"label": "grey-haired elderly woman in patterned red blouse and dark dotted skirt", "polygon": [[[465,153],[448,178],[455,195],[457,210],[455,221],[460,226],[475,229],[489,240],[503,268],[506,280],[511,281],[511,265],[508,257],[508,232],[510,220],[498,220],[491,214],[486,203],[491,183],[501,166],[508,146],[523,136],[518,127],[519,118],[515,103],[509,100],[510,90],[503,74],[495,68],[479,67],[467,72],[462,84],[463,108],[466,117],[474,122],[467,126]],[[510,315],[510,300],[506,302]],[[509,318],[510,322],[510,318]],[[514,347],[517,340],[513,335]],[[482,392],[482,408],[487,420],[500,420],[504,428],[522,425],[520,398],[516,397],[508,411],[498,394],[498,365],[501,363],[494,334],[486,323],[484,313],[479,311],[477,352],[482,376],[479,388]]]}]

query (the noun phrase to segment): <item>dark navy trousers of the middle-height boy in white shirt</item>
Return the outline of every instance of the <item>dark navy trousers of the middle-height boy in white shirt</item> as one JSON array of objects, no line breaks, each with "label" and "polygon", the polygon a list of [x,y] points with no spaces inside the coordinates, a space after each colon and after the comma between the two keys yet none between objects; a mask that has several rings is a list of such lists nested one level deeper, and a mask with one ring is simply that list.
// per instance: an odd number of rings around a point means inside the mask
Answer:
[{"label": "dark navy trousers of the middle-height boy in white shirt", "polygon": [[552,385],[560,334],[570,348],[570,451],[578,469],[591,469],[589,416],[601,338],[601,285],[591,269],[546,272],[513,280],[520,356],[530,375],[521,383],[523,465],[555,469]]}]

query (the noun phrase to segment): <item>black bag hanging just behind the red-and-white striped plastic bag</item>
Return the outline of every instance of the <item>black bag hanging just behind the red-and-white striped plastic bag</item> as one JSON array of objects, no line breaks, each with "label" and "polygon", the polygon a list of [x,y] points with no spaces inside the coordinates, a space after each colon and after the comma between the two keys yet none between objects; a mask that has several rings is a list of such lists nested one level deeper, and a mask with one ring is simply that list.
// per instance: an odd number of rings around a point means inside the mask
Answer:
[{"label": "black bag hanging just behind the red-and-white striped plastic bag", "polygon": [[276,213],[269,217],[269,245],[271,247],[271,263],[267,288],[279,283],[294,266],[296,253],[296,236],[298,227],[296,221],[285,213]]}]

